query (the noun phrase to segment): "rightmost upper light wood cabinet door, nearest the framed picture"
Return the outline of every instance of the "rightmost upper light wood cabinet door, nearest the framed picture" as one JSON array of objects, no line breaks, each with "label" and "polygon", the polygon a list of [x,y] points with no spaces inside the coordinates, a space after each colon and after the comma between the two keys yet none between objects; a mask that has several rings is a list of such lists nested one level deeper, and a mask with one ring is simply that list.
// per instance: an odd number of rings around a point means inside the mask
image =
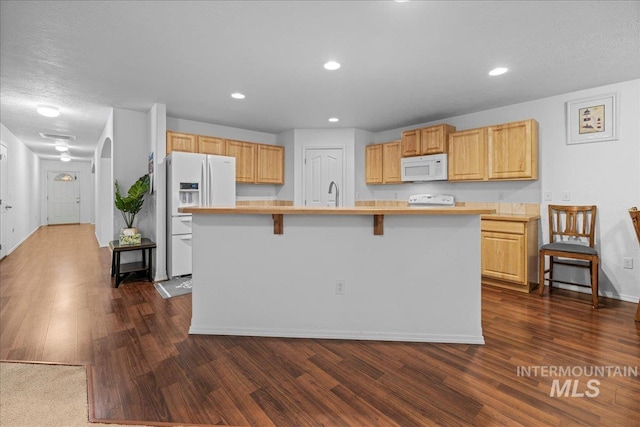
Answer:
[{"label": "rightmost upper light wood cabinet door, nearest the framed picture", "polygon": [[538,179],[538,123],[524,120],[490,126],[489,179]]}]

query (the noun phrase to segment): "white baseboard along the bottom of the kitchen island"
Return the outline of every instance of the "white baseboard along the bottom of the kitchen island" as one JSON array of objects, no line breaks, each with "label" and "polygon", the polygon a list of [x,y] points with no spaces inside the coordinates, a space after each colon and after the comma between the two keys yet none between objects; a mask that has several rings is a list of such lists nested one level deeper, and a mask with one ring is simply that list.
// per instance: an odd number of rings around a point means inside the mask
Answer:
[{"label": "white baseboard along the bottom of the kitchen island", "polygon": [[210,328],[193,326],[189,328],[192,335],[238,335],[278,338],[317,338],[367,341],[399,341],[399,342],[432,342],[448,344],[484,344],[482,335],[440,335],[440,334],[405,334],[388,332],[354,332],[305,329],[254,329],[254,328]]}]

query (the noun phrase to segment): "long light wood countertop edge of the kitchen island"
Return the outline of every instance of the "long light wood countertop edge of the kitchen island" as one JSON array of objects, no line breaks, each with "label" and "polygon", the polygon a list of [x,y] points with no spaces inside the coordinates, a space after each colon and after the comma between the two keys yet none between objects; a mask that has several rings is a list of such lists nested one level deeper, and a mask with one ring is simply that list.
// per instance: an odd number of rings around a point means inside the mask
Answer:
[{"label": "long light wood countertop edge of the kitchen island", "polygon": [[213,215],[488,215],[493,209],[465,207],[339,207],[308,208],[301,206],[237,206],[233,207],[188,207],[179,212]]}]

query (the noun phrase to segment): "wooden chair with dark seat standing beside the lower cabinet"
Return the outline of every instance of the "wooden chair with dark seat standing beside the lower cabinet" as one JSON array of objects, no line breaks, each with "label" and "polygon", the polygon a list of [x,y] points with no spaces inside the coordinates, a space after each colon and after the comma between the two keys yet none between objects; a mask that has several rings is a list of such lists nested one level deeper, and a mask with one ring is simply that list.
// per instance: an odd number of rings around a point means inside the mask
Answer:
[{"label": "wooden chair with dark seat standing beside the lower cabinet", "polygon": [[[549,205],[549,243],[540,248],[540,295],[544,294],[545,280],[549,281],[549,293],[551,293],[553,282],[589,286],[554,279],[553,266],[555,264],[588,268],[591,276],[591,300],[593,308],[598,308],[598,264],[600,258],[594,247],[595,225],[596,206]],[[549,269],[545,270],[545,257],[547,256],[549,257]],[[549,273],[548,279],[545,279],[546,273]]]}]

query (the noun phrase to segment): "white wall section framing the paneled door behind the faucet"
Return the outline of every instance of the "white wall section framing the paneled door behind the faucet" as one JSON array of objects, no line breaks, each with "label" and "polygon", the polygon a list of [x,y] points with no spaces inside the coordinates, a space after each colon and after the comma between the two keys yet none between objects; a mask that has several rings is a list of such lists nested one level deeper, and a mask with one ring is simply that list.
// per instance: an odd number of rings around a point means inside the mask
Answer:
[{"label": "white wall section framing the paneled door behind the faucet", "polygon": [[[343,189],[345,206],[353,206],[356,173],[355,169],[356,129],[296,129],[294,131],[294,205],[303,201],[304,152],[308,148],[342,148],[345,176]],[[364,146],[362,149],[364,153]],[[364,164],[364,163],[363,163]]]}]

